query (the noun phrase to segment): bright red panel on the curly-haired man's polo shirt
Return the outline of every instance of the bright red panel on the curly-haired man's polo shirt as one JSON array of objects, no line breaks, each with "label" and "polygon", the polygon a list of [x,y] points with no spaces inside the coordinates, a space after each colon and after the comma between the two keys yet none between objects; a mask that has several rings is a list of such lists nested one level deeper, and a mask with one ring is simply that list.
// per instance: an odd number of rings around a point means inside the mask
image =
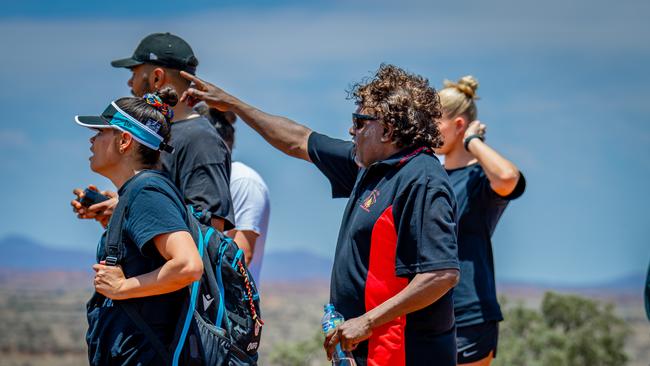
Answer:
[{"label": "bright red panel on the curly-haired man's polo shirt", "polygon": [[[370,260],[366,279],[366,312],[395,296],[408,285],[406,278],[395,275],[397,232],[393,206],[379,216],[372,228]],[[368,366],[406,364],[406,315],[372,330],[368,339]]]}]

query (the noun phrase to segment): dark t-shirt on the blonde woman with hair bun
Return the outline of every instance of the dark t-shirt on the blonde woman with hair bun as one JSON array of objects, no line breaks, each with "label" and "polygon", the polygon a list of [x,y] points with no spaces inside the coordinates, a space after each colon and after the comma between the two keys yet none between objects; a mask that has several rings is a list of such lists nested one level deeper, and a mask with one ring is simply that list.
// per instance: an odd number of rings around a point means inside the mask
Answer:
[{"label": "dark t-shirt on the blonde woman with hair bun", "polygon": [[521,175],[514,191],[501,197],[490,187],[483,168],[473,164],[447,170],[458,201],[460,282],[454,291],[459,327],[503,320],[494,281],[492,233],[508,202],[524,193]]}]

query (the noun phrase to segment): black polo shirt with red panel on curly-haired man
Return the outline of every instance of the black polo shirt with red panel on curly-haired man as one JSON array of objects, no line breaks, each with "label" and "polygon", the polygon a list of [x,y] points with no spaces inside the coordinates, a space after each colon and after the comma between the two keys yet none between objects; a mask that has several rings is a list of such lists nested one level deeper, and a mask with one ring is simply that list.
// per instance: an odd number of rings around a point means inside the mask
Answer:
[{"label": "black polo shirt with red panel on curly-haired man", "polygon": [[[312,133],[312,162],[334,197],[349,197],[339,232],[331,302],[346,319],[404,289],[418,273],[459,269],[456,201],[447,174],[425,148],[410,148],[367,169],[354,145]],[[360,365],[455,365],[452,291],[419,311],[373,329],[353,352]]]}]

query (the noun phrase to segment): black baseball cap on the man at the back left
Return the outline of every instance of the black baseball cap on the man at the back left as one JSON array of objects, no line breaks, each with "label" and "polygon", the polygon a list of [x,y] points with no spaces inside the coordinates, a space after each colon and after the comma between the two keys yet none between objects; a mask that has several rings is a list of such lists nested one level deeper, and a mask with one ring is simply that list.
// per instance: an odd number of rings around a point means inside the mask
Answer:
[{"label": "black baseball cap on the man at the back left", "polygon": [[199,60],[194,56],[194,51],[187,42],[168,32],[153,33],[144,37],[133,51],[133,56],[115,60],[111,65],[132,68],[145,63],[194,74]]}]

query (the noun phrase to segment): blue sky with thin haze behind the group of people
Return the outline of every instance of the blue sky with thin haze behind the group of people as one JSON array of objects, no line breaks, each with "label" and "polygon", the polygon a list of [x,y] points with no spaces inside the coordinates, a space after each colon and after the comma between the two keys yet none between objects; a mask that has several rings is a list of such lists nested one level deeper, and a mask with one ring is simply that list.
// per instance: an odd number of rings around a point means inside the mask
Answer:
[{"label": "blue sky with thin haze behind the group of people", "polygon": [[[110,183],[88,168],[91,132],[75,114],[127,95],[145,35],[192,44],[199,75],[270,113],[347,138],[346,88],[395,63],[435,86],[481,85],[488,142],[526,174],[526,194],[493,238],[502,280],[585,284],[643,272],[650,261],[650,3],[21,1],[0,15],[0,237],[22,234],[93,250],[74,187]],[[399,6],[397,5],[399,4]],[[266,180],[267,250],[331,256],[345,202],[309,164],[269,147],[241,121],[234,157]]]}]

